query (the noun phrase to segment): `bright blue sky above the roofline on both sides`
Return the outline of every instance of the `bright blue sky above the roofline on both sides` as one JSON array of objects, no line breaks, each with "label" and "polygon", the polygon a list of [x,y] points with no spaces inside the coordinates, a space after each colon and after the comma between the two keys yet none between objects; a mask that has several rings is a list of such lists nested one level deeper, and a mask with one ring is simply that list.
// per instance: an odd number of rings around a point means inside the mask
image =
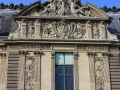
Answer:
[{"label": "bright blue sky above the roofline on both sides", "polygon": [[[33,2],[36,2],[38,0],[0,0],[0,3],[4,4],[20,4],[23,3],[24,5],[29,5]],[[42,3],[44,3],[46,0],[41,0]],[[120,8],[120,0],[81,0],[82,4],[86,4],[86,2],[89,2],[91,4],[96,5],[97,7],[103,7],[107,6],[112,8],[113,6],[116,6],[117,8]]]}]

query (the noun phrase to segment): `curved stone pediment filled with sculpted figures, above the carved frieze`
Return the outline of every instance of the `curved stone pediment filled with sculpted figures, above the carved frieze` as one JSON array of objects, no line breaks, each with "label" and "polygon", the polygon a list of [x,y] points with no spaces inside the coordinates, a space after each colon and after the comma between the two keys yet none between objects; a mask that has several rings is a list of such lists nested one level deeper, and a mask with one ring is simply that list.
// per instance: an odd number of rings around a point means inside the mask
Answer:
[{"label": "curved stone pediment filled with sculpted figures, above the carved frieze", "polygon": [[32,4],[21,11],[19,16],[70,17],[70,18],[106,18],[108,16],[96,6],[87,3],[82,5],[79,0],[47,0],[44,4]]}]

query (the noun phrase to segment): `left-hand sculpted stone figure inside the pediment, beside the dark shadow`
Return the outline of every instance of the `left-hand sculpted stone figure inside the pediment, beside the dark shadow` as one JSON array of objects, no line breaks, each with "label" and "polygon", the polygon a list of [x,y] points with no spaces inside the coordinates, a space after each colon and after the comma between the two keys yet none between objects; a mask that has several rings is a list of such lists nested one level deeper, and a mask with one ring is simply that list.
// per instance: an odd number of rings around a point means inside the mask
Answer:
[{"label": "left-hand sculpted stone figure inside the pediment, beside the dark shadow", "polygon": [[52,0],[50,1],[50,4],[48,4],[46,7],[44,7],[44,10],[40,13],[41,14],[55,14],[56,13],[56,1]]}]

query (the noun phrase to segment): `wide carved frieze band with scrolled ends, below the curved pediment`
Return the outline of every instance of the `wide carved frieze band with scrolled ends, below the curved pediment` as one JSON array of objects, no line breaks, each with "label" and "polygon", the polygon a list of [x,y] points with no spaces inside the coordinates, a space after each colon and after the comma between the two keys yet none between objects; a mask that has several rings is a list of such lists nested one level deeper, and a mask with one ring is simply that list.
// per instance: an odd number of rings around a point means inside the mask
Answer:
[{"label": "wide carved frieze band with scrolled ends, below the curved pediment", "polygon": [[[25,20],[17,21],[18,30],[10,33],[9,39],[77,39],[77,40],[118,40],[106,30],[101,21]],[[107,32],[106,32],[107,31]]]}]

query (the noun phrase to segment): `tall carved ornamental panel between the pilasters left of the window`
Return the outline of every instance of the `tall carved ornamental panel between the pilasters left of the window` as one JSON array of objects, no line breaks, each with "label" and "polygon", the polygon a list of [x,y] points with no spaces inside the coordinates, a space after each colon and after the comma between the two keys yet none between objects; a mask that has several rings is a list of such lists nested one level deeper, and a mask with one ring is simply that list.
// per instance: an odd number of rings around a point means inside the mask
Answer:
[{"label": "tall carved ornamental panel between the pilasters left of the window", "polygon": [[35,58],[26,56],[25,60],[25,90],[34,90]]}]

